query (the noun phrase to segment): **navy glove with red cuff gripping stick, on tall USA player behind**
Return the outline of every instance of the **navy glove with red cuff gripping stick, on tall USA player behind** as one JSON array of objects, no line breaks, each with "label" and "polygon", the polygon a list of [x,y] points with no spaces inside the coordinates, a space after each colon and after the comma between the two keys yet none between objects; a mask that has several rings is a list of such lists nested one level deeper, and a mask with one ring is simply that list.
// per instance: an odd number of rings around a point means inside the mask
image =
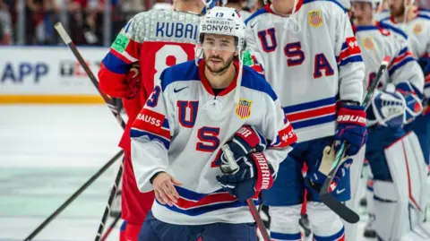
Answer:
[{"label": "navy glove with red cuff gripping stick, on tall USA player behind", "polygon": [[338,110],[338,130],[334,136],[335,150],[340,144],[348,142],[347,156],[354,156],[367,141],[365,108],[342,104]]}]

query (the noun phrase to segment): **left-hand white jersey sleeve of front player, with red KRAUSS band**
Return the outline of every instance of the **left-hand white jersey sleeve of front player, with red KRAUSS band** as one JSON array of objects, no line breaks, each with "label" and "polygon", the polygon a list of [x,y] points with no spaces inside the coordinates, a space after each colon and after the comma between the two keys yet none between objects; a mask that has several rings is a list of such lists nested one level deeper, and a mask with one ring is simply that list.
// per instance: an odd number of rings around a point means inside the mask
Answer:
[{"label": "left-hand white jersey sleeve of front player, with red KRAUSS band", "polygon": [[136,183],[143,193],[150,192],[150,177],[159,171],[168,172],[168,149],[174,129],[174,111],[161,86],[156,85],[133,122],[132,162]]}]

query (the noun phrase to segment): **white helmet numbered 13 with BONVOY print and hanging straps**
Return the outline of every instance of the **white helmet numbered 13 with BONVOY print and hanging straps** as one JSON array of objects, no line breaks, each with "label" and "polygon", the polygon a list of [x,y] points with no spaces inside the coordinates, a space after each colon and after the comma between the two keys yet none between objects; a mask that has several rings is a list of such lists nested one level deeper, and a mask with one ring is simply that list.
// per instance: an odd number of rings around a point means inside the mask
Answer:
[{"label": "white helmet numbered 13 with BONVOY print and hanging straps", "polygon": [[245,52],[245,22],[236,9],[231,7],[216,6],[202,16],[199,26],[199,44],[196,47],[195,63],[202,56],[202,43],[205,33],[228,35],[236,37],[236,51],[239,58],[239,71],[237,74],[236,102],[239,99],[240,84],[242,82],[243,58]]}]

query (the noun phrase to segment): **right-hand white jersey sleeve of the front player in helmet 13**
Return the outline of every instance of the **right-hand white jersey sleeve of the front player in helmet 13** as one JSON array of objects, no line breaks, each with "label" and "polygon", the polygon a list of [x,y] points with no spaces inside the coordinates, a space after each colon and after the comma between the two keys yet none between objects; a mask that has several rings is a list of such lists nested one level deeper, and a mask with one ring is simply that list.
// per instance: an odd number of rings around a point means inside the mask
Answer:
[{"label": "right-hand white jersey sleeve of the front player in helmet 13", "polygon": [[274,92],[271,96],[275,99],[267,98],[266,117],[259,129],[270,140],[268,148],[262,153],[277,173],[280,162],[287,158],[288,152],[296,145],[297,135],[280,106],[280,99],[276,98]]}]

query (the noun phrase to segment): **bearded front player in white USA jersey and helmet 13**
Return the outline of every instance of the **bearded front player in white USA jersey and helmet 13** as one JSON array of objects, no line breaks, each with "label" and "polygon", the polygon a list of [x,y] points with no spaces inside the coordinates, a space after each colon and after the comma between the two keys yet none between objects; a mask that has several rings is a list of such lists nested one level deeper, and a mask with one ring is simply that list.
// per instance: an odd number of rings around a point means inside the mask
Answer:
[{"label": "bearded front player in white USA jersey and helmet 13", "polygon": [[[136,181],[156,195],[142,241],[256,241],[245,200],[271,187],[297,140],[270,84],[242,67],[245,23],[236,10],[211,9],[199,32],[203,59],[161,73],[133,123]],[[238,172],[221,172],[222,145]]]}]

